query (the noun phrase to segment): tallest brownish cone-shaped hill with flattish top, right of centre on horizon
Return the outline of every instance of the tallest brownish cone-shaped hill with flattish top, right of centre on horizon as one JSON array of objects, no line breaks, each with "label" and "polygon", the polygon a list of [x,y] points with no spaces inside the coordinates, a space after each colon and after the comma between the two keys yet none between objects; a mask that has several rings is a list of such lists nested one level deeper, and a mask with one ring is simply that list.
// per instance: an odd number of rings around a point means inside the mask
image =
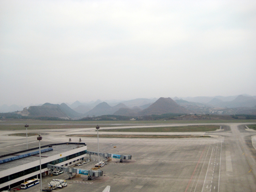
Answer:
[{"label": "tallest brownish cone-shaped hill with flattish top, right of centre on horizon", "polygon": [[142,110],[140,114],[143,115],[160,115],[166,113],[184,113],[188,114],[189,111],[178,105],[174,100],[169,98],[159,98],[156,102],[148,108]]}]

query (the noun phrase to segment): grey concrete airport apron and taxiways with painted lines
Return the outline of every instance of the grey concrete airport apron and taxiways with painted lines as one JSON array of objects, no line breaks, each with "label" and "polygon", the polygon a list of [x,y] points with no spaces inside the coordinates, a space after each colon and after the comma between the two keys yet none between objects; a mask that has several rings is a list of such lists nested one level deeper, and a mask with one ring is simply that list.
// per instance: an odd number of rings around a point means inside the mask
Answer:
[{"label": "grey concrete airport apron and taxiways with painted lines", "polygon": [[[172,126],[177,125],[180,124],[172,124]],[[252,144],[252,136],[256,135],[256,132],[248,130],[243,125],[221,124],[221,129],[218,131],[196,133],[211,135],[212,138],[100,138],[101,152],[132,154],[132,160],[123,164],[112,160],[102,168],[106,176],[92,183],[84,183],[88,182],[83,180],[86,178],[70,181],[70,185],[62,191],[68,192],[75,187],[76,192],[84,192],[86,187],[86,191],[96,192],[110,185],[111,192],[120,190],[123,192],[255,192],[256,150]],[[94,130],[95,128],[40,130],[43,134],[42,145],[68,142],[66,137],[68,134],[91,134]],[[13,132],[0,131],[0,154],[26,149],[26,137],[8,136]],[[100,134],[112,133],[100,132]],[[72,137],[72,142],[78,140],[79,138]],[[88,150],[97,150],[97,138],[82,138],[82,142],[88,144]],[[32,148],[35,145],[37,145],[36,136],[29,137],[28,147]],[[117,148],[113,148],[114,145]],[[85,164],[84,168],[90,169],[93,164],[94,162]]]}]

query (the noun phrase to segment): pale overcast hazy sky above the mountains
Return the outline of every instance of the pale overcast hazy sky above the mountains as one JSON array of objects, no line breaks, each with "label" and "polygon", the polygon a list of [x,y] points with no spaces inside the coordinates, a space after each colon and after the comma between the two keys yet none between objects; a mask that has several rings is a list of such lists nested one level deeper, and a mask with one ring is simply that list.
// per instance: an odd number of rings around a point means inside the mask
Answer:
[{"label": "pale overcast hazy sky above the mountains", "polygon": [[0,0],[0,105],[239,94],[255,0]]}]

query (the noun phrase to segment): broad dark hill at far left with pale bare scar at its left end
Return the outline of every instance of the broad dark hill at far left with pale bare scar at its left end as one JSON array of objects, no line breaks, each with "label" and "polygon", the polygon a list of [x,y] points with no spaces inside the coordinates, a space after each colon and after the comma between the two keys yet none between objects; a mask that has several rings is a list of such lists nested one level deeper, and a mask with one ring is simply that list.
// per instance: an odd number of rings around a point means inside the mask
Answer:
[{"label": "broad dark hill at far left with pale bare scar at its left end", "polygon": [[60,105],[45,103],[42,106],[30,106],[28,109],[24,108],[17,113],[22,116],[57,117],[64,119],[78,119],[82,117],[82,114],[75,112],[64,103]]}]

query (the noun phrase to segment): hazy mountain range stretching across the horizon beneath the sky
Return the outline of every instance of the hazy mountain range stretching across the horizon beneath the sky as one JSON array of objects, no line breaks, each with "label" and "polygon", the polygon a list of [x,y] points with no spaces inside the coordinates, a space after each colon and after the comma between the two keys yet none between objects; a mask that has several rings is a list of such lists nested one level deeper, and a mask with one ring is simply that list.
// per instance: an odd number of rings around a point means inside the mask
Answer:
[{"label": "hazy mountain range stretching across the horizon beneath the sky", "polygon": [[[201,102],[199,102],[201,101]],[[5,106],[6,107],[6,106]],[[16,111],[16,110],[15,110]],[[50,104],[29,106],[17,110],[16,114],[32,117],[56,117],[63,119],[81,119],[102,115],[149,116],[160,114],[252,114],[256,115],[256,97],[248,95],[229,97],[196,97],[196,98],[153,98],[134,99],[111,104],[97,100],[85,104],[79,101],[73,104]]]}]

